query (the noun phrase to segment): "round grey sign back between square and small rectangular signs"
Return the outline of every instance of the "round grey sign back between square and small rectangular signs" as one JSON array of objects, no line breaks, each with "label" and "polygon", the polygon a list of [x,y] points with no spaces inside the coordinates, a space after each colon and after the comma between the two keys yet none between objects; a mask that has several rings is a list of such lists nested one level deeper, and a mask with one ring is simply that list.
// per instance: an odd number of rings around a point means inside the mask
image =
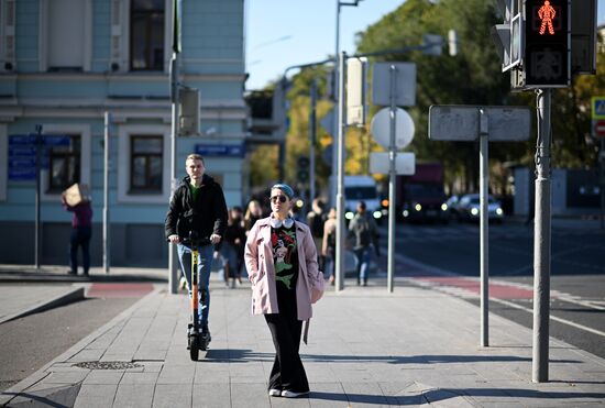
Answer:
[{"label": "round grey sign back between square and small rectangular signs", "polygon": [[[386,150],[391,148],[391,108],[383,108],[372,118],[370,132],[376,142]],[[404,148],[414,139],[414,120],[402,108],[395,111],[395,146]]]}]

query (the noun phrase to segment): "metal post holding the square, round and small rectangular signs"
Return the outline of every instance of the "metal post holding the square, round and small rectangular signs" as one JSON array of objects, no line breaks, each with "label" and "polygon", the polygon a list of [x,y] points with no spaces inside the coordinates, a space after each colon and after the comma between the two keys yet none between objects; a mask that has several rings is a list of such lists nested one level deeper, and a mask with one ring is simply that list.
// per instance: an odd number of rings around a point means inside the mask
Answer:
[{"label": "metal post holding the square, round and small rectangular signs", "polygon": [[[388,202],[395,202],[395,180],[397,178],[396,163],[397,163],[397,147],[395,146],[395,132],[397,131],[397,106],[395,104],[397,97],[397,68],[392,65],[389,68],[391,75],[391,140],[388,143]],[[393,276],[395,274],[395,211],[388,211],[388,253],[387,253],[387,290],[393,293]]]}]

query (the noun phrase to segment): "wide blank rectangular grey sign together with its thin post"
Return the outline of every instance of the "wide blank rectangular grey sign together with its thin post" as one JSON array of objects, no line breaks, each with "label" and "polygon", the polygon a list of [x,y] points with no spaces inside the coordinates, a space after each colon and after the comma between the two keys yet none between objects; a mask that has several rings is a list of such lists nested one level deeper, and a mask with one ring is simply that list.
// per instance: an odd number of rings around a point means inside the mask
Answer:
[{"label": "wide blank rectangular grey sign together with its thin post", "polygon": [[480,265],[481,265],[481,345],[490,345],[488,299],[488,141],[527,141],[531,129],[526,107],[431,106],[429,139],[437,141],[480,140]]}]

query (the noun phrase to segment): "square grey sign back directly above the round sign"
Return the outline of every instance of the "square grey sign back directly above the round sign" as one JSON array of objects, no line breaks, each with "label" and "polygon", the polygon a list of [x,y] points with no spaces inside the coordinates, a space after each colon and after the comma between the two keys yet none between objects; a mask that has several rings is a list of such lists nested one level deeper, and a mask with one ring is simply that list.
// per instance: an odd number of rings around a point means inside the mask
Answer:
[{"label": "square grey sign back directly above the round sign", "polygon": [[391,66],[395,66],[395,104],[413,107],[416,104],[416,64],[376,63],[372,77],[372,103],[391,106]]}]

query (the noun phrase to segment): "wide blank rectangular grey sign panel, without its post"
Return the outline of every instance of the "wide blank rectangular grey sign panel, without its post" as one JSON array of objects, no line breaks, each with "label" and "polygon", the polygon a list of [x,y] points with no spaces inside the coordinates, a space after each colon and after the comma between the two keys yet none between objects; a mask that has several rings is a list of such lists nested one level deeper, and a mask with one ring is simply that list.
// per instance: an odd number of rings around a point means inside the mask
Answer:
[{"label": "wide blank rectangular grey sign panel, without its post", "polygon": [[480,109],[488,122],[490,142],[529,140],[531,115],[526,107],[473,107],[433,104],[429,108],[429,139],[437,141],[474,141],[479,137]]}]

